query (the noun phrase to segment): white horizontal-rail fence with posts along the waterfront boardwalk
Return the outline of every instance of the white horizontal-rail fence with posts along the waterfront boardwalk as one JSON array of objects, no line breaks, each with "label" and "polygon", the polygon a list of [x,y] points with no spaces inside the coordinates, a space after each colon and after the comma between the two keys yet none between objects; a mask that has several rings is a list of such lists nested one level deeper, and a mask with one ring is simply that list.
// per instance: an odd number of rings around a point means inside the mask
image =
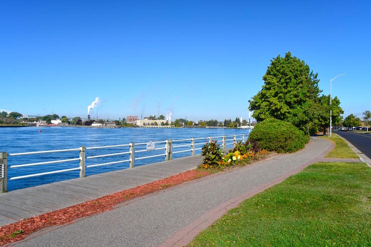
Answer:
[{"label": "white horizontal-rail fence with posts along the waterfront boardwalk", "polygon": [[[231,137],[227,139],[227,137]],[[236,138],[237,136],[242,136],[239,138]],[[195,140],[205,140],[202,142],[195,142]],[[9,180],[14,179],[21,179],[21,178],[27,178],[27,177],[34,177],[34,176],[41,176],[41,175],[47,175],[47,174],[54,174],[54,173],[61,173],[61,172],[67,172],[72,170],[80,170],[80,177],[85,176],[85,169],[86,168],[92,168],[97,166],[103,166],[103,165],[110,165],[110,164],[118,164],[118,163],[125,163],[129,162],[130,167],[134,166],[135,160],[140,159],[147,159],[147,158],[153,158],[153,157],[160,157],[165,156],[165,160],[172,159],[173,153],[182,153],[182,152],[191,152],[191,155],[195,155],[196,150],[201,150],[202,147],[196,148],[196,145],[204,145],[207,142],[210,141],[216,141],[216,142],[222,142],[222,147],[226,148],[227,145],[236,144],[237,140],[242,140],[245,142],[245,134],[238,134],[238,135],[224,135],[224,136],[208,136],[208,137],[198,137],[198,138],[185,138],[185,139],[176,139],[176,140],[160,140],[160,141],[154,141],[156,144],[164,144],[164,146],[146,149],[146,147],[135,150],[134,147],[136,146],[143,146],[147,145],[147,142],[139,142],[139,143],[128,143],[128,144],[118,144],[118,145],[106,145],[106,146],[80,146],[78,148],[69,148],[69,149],[56,149],[56,150],[43,150],[43,151],[32,151],[32,152],[17,152],[17,153],[6,153],[6,152],[0,152],[2,156],[0,156],[0,178],[2,178],[1,182],[5,186],[2,186],[3,191],[0,192],[6,192],[6,180],[7,180],[7,156],[19,156],[19,155],[32,155],[32,154],[47,154],[47,153],[59,153],[59,152],[73,152],[73,151],[79,151],[78,157],[71,157],[66,159],[57,159],[57,160],[49,160],[49,161],[43,161],[43,162],[33,162],[33,163],[23,163],[23,164],[12,164],[9,166],[9,168],[20,168],[20,167],[28,167],[28,166],[34,166],[34,165],[44,165],[44,164],[55,164],[55,163],[66,163],[66,162],[72,162],[72,161],[79,161],[78,167],[71,167],[66,169],[60,169],[60,170],[52,170],[47,172],[39,172],[39,173],[33,173],[33,174],[26,174],[26,175],[18,175],[10,177]],[[227,141],[233,141],[227,143]],[[178,142],[179,144],[173,145],[173,142]],[[96,149],[109,149],[109,148],[117,148],[117,147],[128,147],[129,150],[127,151],[121,151],[121,152],[114,152],[114,153],[105,153],[105,154],[99,154],[95,153],[96,155],[86,155],[87,150],[94,151]],[[187,148],[191,147],[191,148]],[[179,149],[180,148],[180,149]],[[187,149],[184,149],[187,148]],[[145,152],[151,152],[153,150],[164,150],[164,153],[159,154],[153,154],[153,155],[147,155],[147,156],[139,156],[135,157],[135,153],[145,153]],[[175,149],[175,150],[173,150]],[[94,153],[93,153],[94,154]],[[100,163],[93,163],[93,164],[86,164],[86,160],[91,159],[99,159],[104,157],[112,157],[112,156],[123,156],[127,155],[128,158],[122,159],[122,160],[115,160],[110,162],[100,162]],[[6,158],[4,158],[6,157]],[[108,161],[108,160],[107,160]],[[5,187],[5,190],[4,190]]]}]

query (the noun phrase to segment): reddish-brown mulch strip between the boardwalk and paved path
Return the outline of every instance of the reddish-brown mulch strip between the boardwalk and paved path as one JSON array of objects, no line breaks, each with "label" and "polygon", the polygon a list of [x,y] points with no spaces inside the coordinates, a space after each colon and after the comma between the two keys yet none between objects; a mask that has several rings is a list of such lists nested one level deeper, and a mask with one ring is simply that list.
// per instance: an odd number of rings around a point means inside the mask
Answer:
[{"label": "reddish-brown mulch strip between the boardwalk and paved path", "polygon": [[[154,182],[139,185],[89,200],[70,207],[47,212],[32,218],[0,227],[0,245],[15,242],[42,228],[73,222],[73,220],[113,209],[113,206],[128,199],[170,187],[185,181],[209,175],[207,171],[189,170]],[[18,231],[18,234],[16,233]],[[13,233],[13,234],[12,234]]]}]

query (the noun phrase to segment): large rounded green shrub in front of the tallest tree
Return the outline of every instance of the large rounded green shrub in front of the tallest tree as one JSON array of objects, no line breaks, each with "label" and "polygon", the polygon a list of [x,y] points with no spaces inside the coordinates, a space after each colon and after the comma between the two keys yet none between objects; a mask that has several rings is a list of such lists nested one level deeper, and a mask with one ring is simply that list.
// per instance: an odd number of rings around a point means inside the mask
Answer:
[{"label": "large rounded green shrub in front of the tallest tree", "polygon": [[249,140],[268,151],[294,152],[304,147],[309,135],[290,122],[270,117],[255,125]]}]

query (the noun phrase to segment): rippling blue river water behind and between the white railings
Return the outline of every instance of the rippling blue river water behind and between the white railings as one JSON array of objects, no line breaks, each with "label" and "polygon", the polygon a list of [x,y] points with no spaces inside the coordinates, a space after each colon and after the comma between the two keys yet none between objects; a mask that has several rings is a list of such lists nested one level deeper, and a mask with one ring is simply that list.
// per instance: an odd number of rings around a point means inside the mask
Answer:
[{"label": "rippling blue river water behind and between the white railings", "polygon": [[[41,129],[41,132],[39,132]],[[161,141],[166,139],[185,139],[192,137],[221,136],[230,134],[245,134],[247,137],[249,130],[244,129],[224,129],[224,128],[90,128],[90,127],[2,127],[0,135],[0,151],[8,153],[28,152],[39,150],[78,148],[82,145],[103,146],[127,144],[130,142],[139,143],[150,140]],[[229,137],[231,138],[231,137]],[[227,137],[228,139],[228,137]],[[206,142],[206,139],[195,140],[195,143]],[[232,141],[227,141],[227,143]],[[190,141],[175,142],[173,145],[190,144]],[[220,142],[221,143],[221,142]],[[164,147],[164,143],[156,144],[157,147]],[[196,145],[196,148],[203,145]],[[145,145],[135,146],[135,150],[145,149]],[[190,146],[174,148],[173,151],[191,149]],[[114,152],[129,151],[128,146],[91,149],[86,150],[86,156],[100,155]],[[135,153],[135,157],[149,156],[164,153],[165,150],[154,150]],[[196,150],[200,153],[201,150]],[[174,153],[173,158],[191,155],[191,151]],[[42,164],[27,167],[10,168],[11,165],[25,164],[34,162],[51,161],[58,159],[77,158],[79,151],[53,152],[43,154],[31,154],[8,157],[8,190],[25,188],[60,180],[66,180],[79,177],[79,170],[73,170],[62,173],[41,175],[16,180],[9,180],[14,176],[34,174],[60,169],[68,169],[79,166],[79,161],[65,163]],[[129,159],[129,154],[119,156],[109,156],[86,159],[86,165],[97,164],[111,161]],[[164,160],[164,156],[148,159],[135,160],[135,166],[153,163]],[[129,162],[103,165],[86,168],[86,175],[92,175],[117,169],[129,167]]]}]

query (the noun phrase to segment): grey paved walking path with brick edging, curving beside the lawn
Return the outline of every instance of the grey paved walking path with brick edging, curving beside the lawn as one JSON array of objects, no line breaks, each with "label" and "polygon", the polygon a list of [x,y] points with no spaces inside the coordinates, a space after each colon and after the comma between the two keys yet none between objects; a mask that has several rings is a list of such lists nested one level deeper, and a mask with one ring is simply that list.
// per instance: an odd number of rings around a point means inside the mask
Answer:
[{"label": "grey paved walking path with brick edging, curving beside the lawn", "polygon": [[[321,160],[332,147],[328,140],[311,137],[305,148],[298,152],[276,155],[137,197],[111,211],[34,233],[18,245],[181,246],[192,239],[189,232],[200,230],[202,224],[197,221],[208,213],[218,207],[224,208],[235,198],[242,199],[249,193],[261,191]],[[228,205],[236,206],[233,203]],[[184,236],[188,237],[186,241]]]}]

